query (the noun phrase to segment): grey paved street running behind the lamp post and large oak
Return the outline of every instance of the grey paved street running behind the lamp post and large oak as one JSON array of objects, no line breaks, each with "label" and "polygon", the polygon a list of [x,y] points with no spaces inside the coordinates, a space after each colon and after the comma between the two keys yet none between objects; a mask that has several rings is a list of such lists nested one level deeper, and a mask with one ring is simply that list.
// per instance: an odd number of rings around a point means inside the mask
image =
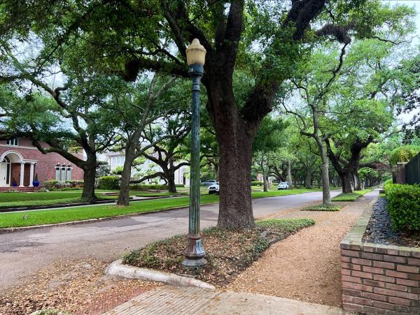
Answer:
[{"label": "grey paved street running behind the lamp post and large oak", "polygon": [[[332,191],[336,196],[339,191]],[[322,199],[322,192],[253,200],[256,219],[287,213]],[[217,224],[218,205],[201,208],[202,228]],[[131,249],[188,232],[188,208],[89,224],[0,234],[0,291],[57,259],[113,261]]]}]

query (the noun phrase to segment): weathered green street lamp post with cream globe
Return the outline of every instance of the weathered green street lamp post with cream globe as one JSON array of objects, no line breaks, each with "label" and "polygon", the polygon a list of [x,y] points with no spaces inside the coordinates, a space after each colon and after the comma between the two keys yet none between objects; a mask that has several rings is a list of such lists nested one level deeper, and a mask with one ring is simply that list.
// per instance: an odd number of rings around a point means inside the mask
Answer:
[{"label": "weathered green street lamp post with cream globe", "polygon": [[191,122],[191,179],[188,245],[182,264],[197,269],[207,265],[200,237],[200,80],[204,74],[206,50],[197,38],[186,50],[188,73],[193,79],[193,117]]}]

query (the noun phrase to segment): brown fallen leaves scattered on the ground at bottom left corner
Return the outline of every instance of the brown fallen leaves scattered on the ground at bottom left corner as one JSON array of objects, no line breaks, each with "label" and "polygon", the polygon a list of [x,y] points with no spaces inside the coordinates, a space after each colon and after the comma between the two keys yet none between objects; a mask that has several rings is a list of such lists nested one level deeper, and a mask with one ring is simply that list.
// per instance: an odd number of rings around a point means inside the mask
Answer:
[{"label": "brown fallen leaves scattered on the ground at bottom left corner", "polygon": [[106,276],[107,265],[96,259],[57,261],[0,295],[0,314],[31,314],[39,309],[101,314],[158,286]]}]

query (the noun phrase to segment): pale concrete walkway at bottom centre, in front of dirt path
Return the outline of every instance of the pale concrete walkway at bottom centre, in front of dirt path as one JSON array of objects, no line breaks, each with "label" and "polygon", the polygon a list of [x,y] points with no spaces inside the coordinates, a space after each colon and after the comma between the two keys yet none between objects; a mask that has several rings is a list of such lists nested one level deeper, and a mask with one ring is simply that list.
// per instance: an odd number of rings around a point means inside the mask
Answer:
[{"label": "pale concrete walkway at bottom centre, in front of dirt path", "polygon": [[128,314],[344,315],[349,313],[339,307],[269,295],[215,291],[186,286],[161,286],[106,312],[106,315]]}]

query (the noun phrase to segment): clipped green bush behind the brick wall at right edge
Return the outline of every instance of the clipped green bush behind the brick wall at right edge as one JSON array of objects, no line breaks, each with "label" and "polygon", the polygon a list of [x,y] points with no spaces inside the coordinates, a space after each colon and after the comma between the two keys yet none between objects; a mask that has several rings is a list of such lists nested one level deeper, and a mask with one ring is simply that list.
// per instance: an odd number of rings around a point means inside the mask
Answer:
[{"label": "clipped green bush behind the brick wall at right edge", "polygon": [[420,186],[390,184],[385,193],[393,229],[420,231]]}]

